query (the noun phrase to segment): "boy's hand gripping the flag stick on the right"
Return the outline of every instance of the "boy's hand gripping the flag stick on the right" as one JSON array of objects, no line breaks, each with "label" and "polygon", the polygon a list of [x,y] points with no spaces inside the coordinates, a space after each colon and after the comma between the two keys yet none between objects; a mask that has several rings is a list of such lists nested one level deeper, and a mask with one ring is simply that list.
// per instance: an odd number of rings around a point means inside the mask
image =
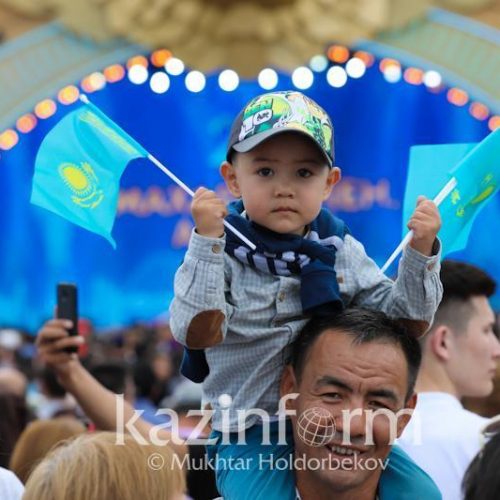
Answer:
[{"label": "boy's hand gripping the flag stick on the right", "polygon": [[413,231],[410,246],[423,255],[431,256],[436,235],[441,228],[441,216],[432,200],[425,196],[417,199],[417,208],[408,222],[408,229]]}]

